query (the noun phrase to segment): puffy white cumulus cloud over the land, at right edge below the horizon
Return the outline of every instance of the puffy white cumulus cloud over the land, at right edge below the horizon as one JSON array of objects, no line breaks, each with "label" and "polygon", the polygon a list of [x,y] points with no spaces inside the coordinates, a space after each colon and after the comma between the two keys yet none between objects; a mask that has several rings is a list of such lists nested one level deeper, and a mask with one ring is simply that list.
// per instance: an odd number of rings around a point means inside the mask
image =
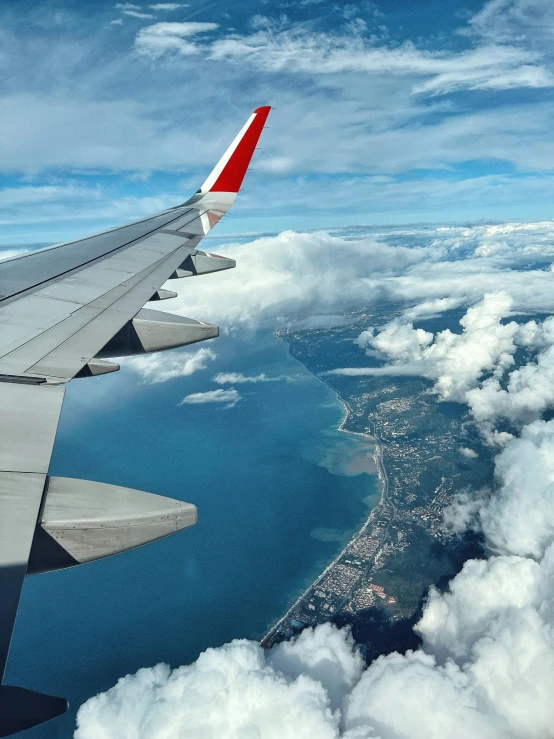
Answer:
[{"label": "puffy white cumulus cloud over the land, at right edge below the horizon", "polygon": [[[487,441],[505,443],[513,434],[496,430],[499,420],[521,427],[554,406],[554,319],[507,321],[512,308],[507,293],[486,293],[460,320],[461,333],[446,329],[436,335],[414,328],[405,320],[412,309],[404,311],[403,318],[378,332],[363,331],[356,339],[369,356],[389,364],[331,373],[428,377],[441,400],[467,403]],[[533,359],[511,370],[517,347],[527,349]]]}]

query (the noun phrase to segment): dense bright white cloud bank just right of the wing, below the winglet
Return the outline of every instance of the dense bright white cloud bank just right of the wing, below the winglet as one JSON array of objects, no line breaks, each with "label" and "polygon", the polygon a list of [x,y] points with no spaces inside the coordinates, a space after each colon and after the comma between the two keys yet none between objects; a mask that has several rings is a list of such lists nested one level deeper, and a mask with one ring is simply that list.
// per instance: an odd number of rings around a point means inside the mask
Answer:
[{"label": "dense bright white cloud bank just right of the wing, below the winglet", "polygon": [[[348,258],[337,263],[333,255],[343,248]],[[328,308],[344,304],[345,284],[350,285],[352,301],[366,296],[371,300],[365,280],[372,270],[402,269],[422,256],[418,249],[392,248],[371,238],[351,241],[326,232],[292,231],[220,251],[236,257],[237,268],[218,275],[217,281],[187,280],[186,295],[175,305],[203,320],[217,316],[215,322],[227,327],[286,325],[289,320],[327,313]]]}]

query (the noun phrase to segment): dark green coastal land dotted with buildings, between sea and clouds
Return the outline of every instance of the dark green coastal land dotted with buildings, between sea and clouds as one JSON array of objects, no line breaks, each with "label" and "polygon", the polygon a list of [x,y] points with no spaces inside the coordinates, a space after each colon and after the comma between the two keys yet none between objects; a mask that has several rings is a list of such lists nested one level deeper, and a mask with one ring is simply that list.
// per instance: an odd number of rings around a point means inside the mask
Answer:
[{"label": "dark green coastal land dotted with buildings, between sea and clouds", "polygon": [[368,659],[415,646],[411,626],[429,586],[479,555],[478,543],[460,540],[443,520],[457,493],[492,478],[490,452],[465,407],[438,402],[424,378],[326,374],[370,364],[354,339],[393,314],[390,307],[362,311],[347,316],[346,326],[279,334],[343,403],[341,429],[375,441],[381,495],[361,529],[262,639],[264,647],[330,620],[352,627]]}]

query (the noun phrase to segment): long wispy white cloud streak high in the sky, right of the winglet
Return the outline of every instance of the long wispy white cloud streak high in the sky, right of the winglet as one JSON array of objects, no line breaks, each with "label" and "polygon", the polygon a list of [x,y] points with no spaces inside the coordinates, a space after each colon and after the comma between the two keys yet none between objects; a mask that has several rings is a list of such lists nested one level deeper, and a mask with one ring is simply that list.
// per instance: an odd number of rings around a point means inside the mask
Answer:
[{"label": "long wispy white cloud streak high in the sky, right of the winglet", "polygon": [[216,39],[210,58],[272,72],[362,72],[428,78],[414,85],[414,93],[549,87],[554,83],[550,73],[537,64],[539,56],[517,46],[479,46],[459,54],[430,52],[418,50],[411,42],[395,48],[376,46],[362,33],[352,33],[352,27],[349,30],[344,35],[314,33],[301,24],[281,29],[268,21],[251,35]]}]

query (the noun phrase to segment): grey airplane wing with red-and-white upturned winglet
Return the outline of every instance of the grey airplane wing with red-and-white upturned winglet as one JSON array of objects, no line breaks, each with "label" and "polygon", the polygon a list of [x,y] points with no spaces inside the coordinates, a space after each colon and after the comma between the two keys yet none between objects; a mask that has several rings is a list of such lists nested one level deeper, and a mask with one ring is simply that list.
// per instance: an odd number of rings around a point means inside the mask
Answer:
[{"label": "grey airplane wing with red-and-white upturned winglet", "polygon": [[[202,187],[151,218],[0,263],[0,682],[26,575],[109,556],[196,523],[196,507],[142,491],[48,475],[64,397],[106,358],[218,335],[144,308],[176,297],[167,280],[235,266],[200,251],[231,207],[270,108],[255,110]],[[63,713],[64,699],[0,687],[0,736]]]}]

